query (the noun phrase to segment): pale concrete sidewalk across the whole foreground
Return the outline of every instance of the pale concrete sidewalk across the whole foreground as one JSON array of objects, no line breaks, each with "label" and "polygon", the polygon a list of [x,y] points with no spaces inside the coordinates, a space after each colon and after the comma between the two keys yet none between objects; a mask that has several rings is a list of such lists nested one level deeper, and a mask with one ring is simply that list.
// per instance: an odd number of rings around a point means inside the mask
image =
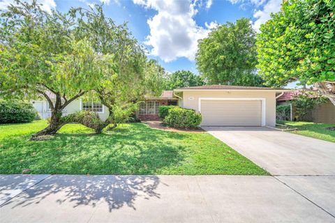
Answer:
[{"label": "pale concrete sidewalk across the whole foreground", "polygon": [[[0,217],[1,222],[335,222],[335,178],[313,177],[299,185],[292,176],[0,175],[0,194],[11,194]],[[8,193],[17,188],[15,178],[17,185],[24,178],[44,180],[21,187],[15,196]]]}]

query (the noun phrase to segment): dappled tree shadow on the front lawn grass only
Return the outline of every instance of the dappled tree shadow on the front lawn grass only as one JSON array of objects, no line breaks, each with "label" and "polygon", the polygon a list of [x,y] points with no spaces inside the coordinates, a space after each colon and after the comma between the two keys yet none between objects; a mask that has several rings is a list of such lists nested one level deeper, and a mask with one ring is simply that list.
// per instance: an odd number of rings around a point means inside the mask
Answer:
[{"label": "dappled tree shadow on the front lawn grass only", "polygon": [[57,134],[47,141],[1,141],[0,174],[157,174],[184,160],[187,134],[136,123],[107,134]]}]

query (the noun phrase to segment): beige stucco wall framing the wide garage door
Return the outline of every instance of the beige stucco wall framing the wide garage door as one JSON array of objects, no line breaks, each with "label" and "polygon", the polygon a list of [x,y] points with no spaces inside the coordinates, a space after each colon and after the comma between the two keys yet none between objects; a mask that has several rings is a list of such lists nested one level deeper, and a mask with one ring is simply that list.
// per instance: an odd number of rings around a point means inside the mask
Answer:
[{"label": "beige stucco wall framing the wide garage door", "polygon": [[274,91],[184,91],[183,107],[199,112],[199,98],[265,98],[265,125],[276,125]]}]

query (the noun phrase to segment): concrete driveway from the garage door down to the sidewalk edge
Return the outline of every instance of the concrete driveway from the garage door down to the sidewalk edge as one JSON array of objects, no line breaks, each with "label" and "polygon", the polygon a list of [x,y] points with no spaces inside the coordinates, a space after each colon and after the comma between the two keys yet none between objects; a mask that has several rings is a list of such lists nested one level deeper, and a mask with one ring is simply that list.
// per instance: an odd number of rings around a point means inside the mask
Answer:
[{"label": "concrete driveway from the garage door down to the sidewalk edge", "polygon": [[274,176],[335,176],[332,142],[270,128],[202,128]]}]

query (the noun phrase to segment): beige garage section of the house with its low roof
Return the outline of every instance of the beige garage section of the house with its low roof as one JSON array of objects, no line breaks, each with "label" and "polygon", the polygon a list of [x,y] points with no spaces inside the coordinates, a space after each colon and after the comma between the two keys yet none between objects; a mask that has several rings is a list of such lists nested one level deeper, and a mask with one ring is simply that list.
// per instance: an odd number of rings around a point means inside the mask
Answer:
[{"label": "beige garage section of the house with its low roof", "polygon": [[201,125],[275,126],[276,97],[287,89],[209,85],[174,89],[181,107],[202,114]]}]

